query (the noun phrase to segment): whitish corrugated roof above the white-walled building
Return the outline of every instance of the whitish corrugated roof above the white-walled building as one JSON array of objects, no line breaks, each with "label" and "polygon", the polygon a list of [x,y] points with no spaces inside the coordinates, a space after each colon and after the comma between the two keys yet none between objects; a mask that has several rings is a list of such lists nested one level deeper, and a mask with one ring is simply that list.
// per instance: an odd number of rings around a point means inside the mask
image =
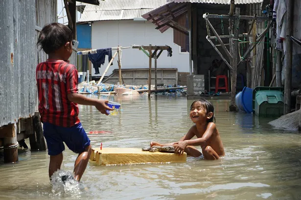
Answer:
[{"label": "whitish corrugated roof above the white-walled building", "polygon": [[98,6],[87,4],[79,21],[132,20],[164,4],[166,0],[100,1]]}]

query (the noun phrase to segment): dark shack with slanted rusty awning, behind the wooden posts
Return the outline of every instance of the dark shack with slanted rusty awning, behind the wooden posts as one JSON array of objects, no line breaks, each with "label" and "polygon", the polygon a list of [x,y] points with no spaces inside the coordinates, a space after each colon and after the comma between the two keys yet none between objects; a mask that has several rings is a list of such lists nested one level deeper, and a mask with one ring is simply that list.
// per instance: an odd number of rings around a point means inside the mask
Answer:
[{"label": "dark shack with slanted rusty awning, behind the wooden posts", "polygon": [[[173,29],[174,43],[179,44],[190,53],[191,61],[189,63],[189,72],[191,76],[188,81],[190,83],[187,83],[188,93],[190,95],[200,95],[205,92],[205,90],[210,91],[214,88],[212,82],[215,83],[215,79],[212,79],[209,75],[209,68],[216,60],[221,60],[220,55],[206,39],[208,32],[203,15],[205,13],[228,15],[231,1],[232,0],[166,0],[167,4],[165,6],[161,6],[142,15],[144,19],[153,22],[162,33]],[[264,0],[235,0],[235,7],[240,8],[241,15],[254,16],[254,14],[257,14],[257,16],[261,16],[261,8],[264,7],[264,5],[262,5],[263,1]],[[269,2],[270,1],[268,1],[268,3]],[[164,18],[160,16],[164,16]],[[210,19],[210,22],[219,35],[229,35],[228,19],[219,17]],[[247,20],[241,20],[239,34],[246,33],[249,26]],[[256,28],[259,33],[263,31],[265,28],[264,20],[258,20]],[[211,36],[214,36],[212,31]],[[222,40],[224,43],[229,43],[229,39]],[[218,42],[212,41],[214,45],[218,44]],[[189,43],[191,45],[189,45]],[[217,48],[222,52],[222,55],[226,57],[221,46],[217,46]],[[247,46],[243,45],[239,48],[241,53],[246,51]],[[226,69],[228,69],[227,66]],[[244,85],[247,85],[252,78],[251,67],[248,67],[247,62],[242,62],[237,70],[237,74],[241,74],[242,76],[240,77],[244,79],[242,82]],[[230,82],[230,73],[226,72],[226,75]]]}]

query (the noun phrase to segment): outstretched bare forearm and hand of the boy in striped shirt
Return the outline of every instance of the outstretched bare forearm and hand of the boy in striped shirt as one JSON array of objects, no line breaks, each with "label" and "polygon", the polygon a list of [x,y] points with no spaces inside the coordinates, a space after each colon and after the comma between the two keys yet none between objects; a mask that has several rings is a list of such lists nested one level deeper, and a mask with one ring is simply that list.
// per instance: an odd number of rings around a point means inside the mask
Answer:
[{"label": "outstretched bare forearm and hand of the boy in striped shirt", "polygon": [[107,102],[109,102],[109,100],[91,99],[78,93],[69,93],[67,97],[68,100],[72,101],[73,103],[78,103],[82,105],[93,105],[96,107],[97,110],[99,110],[102,114],[105,115],[108,115],[106,110],[114,110],[106,104]]}]

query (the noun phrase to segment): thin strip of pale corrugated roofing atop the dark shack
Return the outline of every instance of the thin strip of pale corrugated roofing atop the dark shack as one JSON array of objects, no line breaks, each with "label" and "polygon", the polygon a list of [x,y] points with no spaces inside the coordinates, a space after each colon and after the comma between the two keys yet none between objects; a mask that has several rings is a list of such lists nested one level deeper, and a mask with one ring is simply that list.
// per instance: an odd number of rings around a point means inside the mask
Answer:
[{"label": "thin strip of pale corrugated roofing atop the dark shack", "polygon": [[[167,3],[176,2],[191,2],[191,3],[217,3],[217,4],[230,4],[230,0],[166,0]],[[235,4],[248,4],[248,3],[262,3],[263,0],[235,0]]]}]

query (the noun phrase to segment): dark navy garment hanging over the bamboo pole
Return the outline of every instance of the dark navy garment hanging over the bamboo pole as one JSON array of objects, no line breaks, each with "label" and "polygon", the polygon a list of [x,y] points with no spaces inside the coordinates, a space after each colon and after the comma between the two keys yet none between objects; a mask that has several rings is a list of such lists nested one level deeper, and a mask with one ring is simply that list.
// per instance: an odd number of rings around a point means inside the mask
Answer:
[{"label": "dark navy garment hanging over the bamboo pole", "polygon": [[[97,49],[96,54],[91,54],[89,52],[88,56],[91,62],[93,63],[93,68],[95,69],[95,74],[99,74],[100,65],[105,63],[106,55],[108,55],[109,62],[112,59],[112,48],[106,49]],[[113,65],[113,62],[112,64]]]}]

